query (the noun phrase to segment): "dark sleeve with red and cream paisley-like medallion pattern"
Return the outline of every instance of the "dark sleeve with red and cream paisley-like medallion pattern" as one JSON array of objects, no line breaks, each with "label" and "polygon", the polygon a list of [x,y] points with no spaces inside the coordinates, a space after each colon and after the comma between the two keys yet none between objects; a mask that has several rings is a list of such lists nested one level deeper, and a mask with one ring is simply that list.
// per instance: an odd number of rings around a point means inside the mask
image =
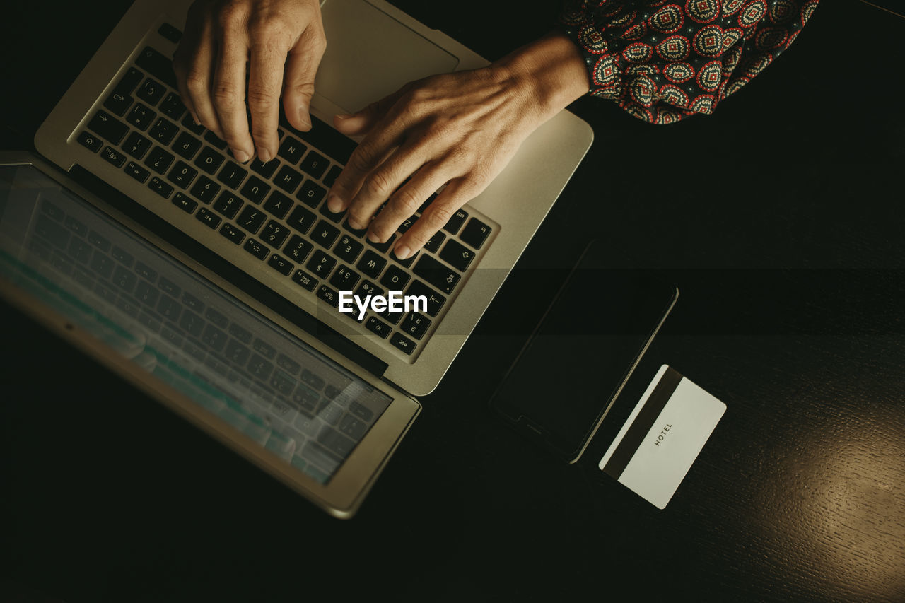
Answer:
[{"label": "dark sleeve with red and cream paisley-like medallion pattern", "polygon": [[711,113],[791,44],[820,0],[567,0],[589,94],[672,123]]}]

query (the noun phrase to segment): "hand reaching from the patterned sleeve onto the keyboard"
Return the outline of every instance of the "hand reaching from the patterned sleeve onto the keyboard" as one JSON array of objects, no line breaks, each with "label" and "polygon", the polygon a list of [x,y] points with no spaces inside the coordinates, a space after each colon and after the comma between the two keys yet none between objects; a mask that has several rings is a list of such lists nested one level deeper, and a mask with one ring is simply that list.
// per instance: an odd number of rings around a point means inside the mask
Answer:
[{"label": "hand reaching from the patterned sleeve onto the keyboard", "polygon": [[396,242],[396,256],[405,259],[588,83],[575,44],[553,34],[486,68],[415,81],[354,115],[337,116],[339,131],[366,136],[330,188],[329,209],[348,209],[350,226],[367,227],[371,241],[384,243],[446,185]]}]

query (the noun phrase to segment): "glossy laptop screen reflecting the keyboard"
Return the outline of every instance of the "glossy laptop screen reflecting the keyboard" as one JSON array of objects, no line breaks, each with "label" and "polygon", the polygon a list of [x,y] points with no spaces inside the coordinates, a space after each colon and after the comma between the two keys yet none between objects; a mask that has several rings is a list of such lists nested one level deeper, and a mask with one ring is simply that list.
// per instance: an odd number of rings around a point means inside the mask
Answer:
[{"label": "glossy laptop screen reflecting the keyboard", "polygon": [[392,400],[31,166],[0,166],[11,286],[319,483]]}]

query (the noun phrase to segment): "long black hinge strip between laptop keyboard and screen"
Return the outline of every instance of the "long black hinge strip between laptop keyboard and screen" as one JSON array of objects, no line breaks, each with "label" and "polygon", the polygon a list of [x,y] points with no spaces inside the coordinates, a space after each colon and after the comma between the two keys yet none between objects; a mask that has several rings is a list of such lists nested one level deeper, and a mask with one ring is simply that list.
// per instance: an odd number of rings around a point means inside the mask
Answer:
[{"label": "long black hinge strip between laptop keyboard and screen", "polygon": [[99,196],[114,209],[128,215],[129,218],[135,220],[138,224],[148,228],[154,235],[166,241],[167,244],[171,244],[176,249],[186,253],[195,262],[201,263],[205,268],[216,273],[226,282],[252,296],[253,299],[262,302],[271,311],[276,312],[301,330],[309,333],[312,337],[335,349],[338,353],[357,363],[358,366],[372,375],[377,378],[383,377],[386,372],[386,362],[378,359],[374,354],[352,343],[336,330],[331,329],[308,312],[301,310],[294,303],[253,279],[221,256],[214,254],[214,252],[199,244],[195,239],[178,230],[175,226],[168,224],[158,215],[148,211],[145,207],[139,206],[129,196],[120,193],[116,188],[94,176],[79,164],[74,164],[69,174],[81,186]]}]

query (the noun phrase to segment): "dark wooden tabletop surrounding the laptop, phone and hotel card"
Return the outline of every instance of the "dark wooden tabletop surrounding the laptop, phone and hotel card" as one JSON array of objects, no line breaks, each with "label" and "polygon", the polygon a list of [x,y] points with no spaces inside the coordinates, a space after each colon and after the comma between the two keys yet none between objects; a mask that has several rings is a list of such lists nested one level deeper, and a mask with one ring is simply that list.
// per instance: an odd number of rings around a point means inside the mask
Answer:
[{"label": "dark wooden tabletop surrounding the laptop, phone and hotel card", "polygon": [[[491,59],[556,12],[398,4]],[[128,5],[5,6],[0,147],[31,147]],[[4,308],[0,598],[905,600],[903,34],[824,0],[711,117],[577,102],[593,148],[349,522]],[[538,269],[595,236],[681,297],[566,465],[487,402],[552,296]],[[595,464],[662,363],[729,409],[661,512]]]}]

